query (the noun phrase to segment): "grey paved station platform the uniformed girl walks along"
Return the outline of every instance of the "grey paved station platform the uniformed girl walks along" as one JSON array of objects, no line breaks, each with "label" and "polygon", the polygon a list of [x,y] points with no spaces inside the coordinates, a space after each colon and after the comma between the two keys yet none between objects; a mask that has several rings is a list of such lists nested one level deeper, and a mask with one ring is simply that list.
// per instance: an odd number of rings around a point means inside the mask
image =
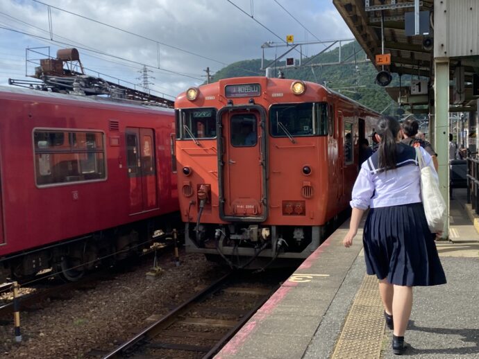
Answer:
[{"label": "grey paved station platform the uniformed girl walks along", "polygon": [[[404,358],[479,358],[479,234],[466,191],[451,199],[451,241],[437,249],[448,283],[414,287]],[[476,221],[477,222],[477,221]],[[217,354],[217,359],[397,358],[375,276],[367,276],[362,231],[331,235]]]}]

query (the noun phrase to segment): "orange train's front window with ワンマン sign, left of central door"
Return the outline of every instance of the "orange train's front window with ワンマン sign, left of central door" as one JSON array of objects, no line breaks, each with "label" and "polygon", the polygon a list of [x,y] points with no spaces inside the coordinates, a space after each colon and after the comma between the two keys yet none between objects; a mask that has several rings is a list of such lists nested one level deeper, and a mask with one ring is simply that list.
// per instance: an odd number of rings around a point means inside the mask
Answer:
[{"label": "orange train's front window with \u30ef\u30f3\u30de\u30f3 sign, left of central door", "polygon": [[176,138],[214,139],[216,112],[214,108],[176,110]]}]

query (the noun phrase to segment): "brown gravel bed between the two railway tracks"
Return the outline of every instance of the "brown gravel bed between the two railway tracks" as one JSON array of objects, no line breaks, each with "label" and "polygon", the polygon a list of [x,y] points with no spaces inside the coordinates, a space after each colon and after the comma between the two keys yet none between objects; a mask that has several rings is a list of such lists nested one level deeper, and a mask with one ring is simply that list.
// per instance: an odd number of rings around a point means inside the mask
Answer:
[{"label": "brown gravel bed between the two railway tracks", "polygon": [[[168,258],[166,258],[168,257]],[[176,267],[168,254],[165,272],[146,279],[151,261],[134,272],[112,274],[95,289],[74,290],[72,299],[52,301],[43,309],[21,313],[24,341],[15,343],[11,323],[0,326],[1,358],[85,358],[91,349],[114,349],[131,338],[153,313],[164,315],[196,290],[221,277],[224,268],[204,256],[188,254]]]}]

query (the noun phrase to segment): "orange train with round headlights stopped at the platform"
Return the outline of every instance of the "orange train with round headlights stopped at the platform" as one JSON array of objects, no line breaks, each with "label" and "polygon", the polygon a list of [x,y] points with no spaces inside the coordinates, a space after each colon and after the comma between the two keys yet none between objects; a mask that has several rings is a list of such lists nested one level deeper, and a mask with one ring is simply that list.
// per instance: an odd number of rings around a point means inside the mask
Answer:
[{"label": "orange train with round headlights stopped at the platform", "polygon": [[187,252],[236,268],[304,259],[326,239],[380,116],[321,85],[266,77],[192,87],[175,110]]}]

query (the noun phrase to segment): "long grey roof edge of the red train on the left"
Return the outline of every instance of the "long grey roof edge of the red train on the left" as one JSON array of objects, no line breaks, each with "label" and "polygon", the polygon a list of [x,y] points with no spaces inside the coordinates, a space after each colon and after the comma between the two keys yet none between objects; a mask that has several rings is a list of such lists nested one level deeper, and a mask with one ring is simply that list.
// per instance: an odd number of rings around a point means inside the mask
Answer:
[{"label": "long grey roof edge of the red train on the left", "polygon": [[[5,95],[7,94],[7,95]],[[133,100],[126,100],[123,98],[104,98],[100,96],[82,96],[74,94],[58,94],[57,92],[40,91],[37,89],[27,89],[23,87],[8,87],[0,86],[0,99],[8,96],[16,100],[44,100],[45,102],[53,103],[72,103],[86,107],[101,107],[111,108],[112,110],[125,111],[153,111],[171,113],[174,110],[167,107],[160,107],[157,105],[145,105]]]}]

